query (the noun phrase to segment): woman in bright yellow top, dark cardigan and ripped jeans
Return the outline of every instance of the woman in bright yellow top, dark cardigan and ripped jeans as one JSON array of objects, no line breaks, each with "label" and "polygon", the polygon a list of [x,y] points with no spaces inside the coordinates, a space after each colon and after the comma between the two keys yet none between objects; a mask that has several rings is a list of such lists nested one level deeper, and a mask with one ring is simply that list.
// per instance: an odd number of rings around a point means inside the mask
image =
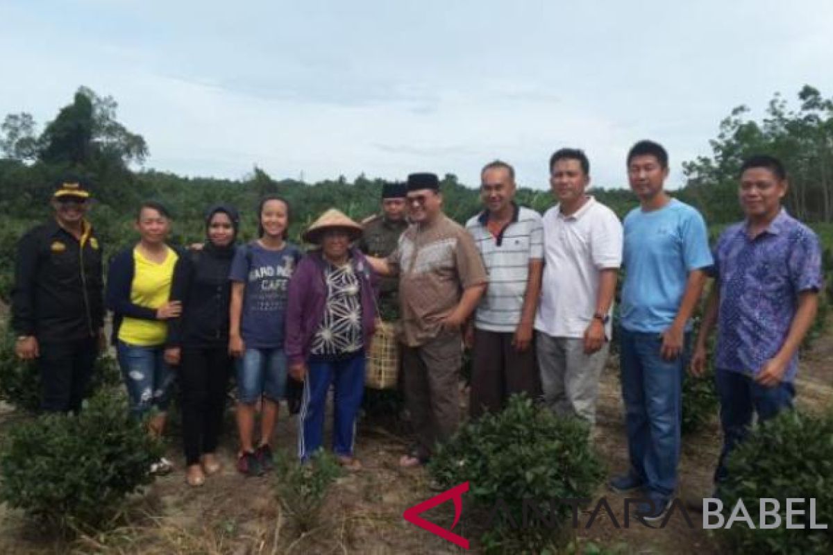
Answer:
[{"label": "woman in bright yellow top, dark cardigan and ripped jeans", "polygon": [[[122,250],[110,263],[107,274],[107,306],[113,311],[113,342],[118,364],[127,385],[130,409],[142,418],[157,409],[148,420],[151,433],[161,435],[171,398],[172,370],[164,359],[167,324],[182,310],[171,294],[173,267],[180,254],[166,244],[171,219],[162,204],[142,203],[136,219],[139,242]],[[166,458],[153,465],[152,472],[172,469]]]}]

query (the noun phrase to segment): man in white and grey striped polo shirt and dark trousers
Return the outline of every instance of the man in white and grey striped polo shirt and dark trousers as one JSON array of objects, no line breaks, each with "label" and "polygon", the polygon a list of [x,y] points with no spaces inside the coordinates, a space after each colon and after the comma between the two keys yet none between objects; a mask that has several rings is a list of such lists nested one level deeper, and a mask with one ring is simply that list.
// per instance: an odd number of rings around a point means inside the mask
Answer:
[{"label": "man in white and grey striped polo shirt and dark trousers", "polygon": [[541,291],[541,216],[515,204],[515,170],[493,161],[481,171],[485,210],[466,223],[489,274],[466,343],[473,344],[471,418],[501,409],[513,393],[535,397],[532,330]]}]

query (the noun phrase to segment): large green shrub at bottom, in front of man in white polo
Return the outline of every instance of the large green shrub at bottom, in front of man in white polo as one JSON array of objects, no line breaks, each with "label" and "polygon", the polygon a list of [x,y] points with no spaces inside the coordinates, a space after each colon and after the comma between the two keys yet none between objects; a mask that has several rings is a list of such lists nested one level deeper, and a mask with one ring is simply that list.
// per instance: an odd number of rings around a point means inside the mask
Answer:
[{"label": "large green shrub at bottom, in front of man in white polo", "polygon": [[[523,521],[525,500],[539,502],[541,513],[552,518],[551,500],[591,498],[604,475],[586,424],[558,417],[523,395],[513,395],[500,413],[462,426],[439,448],[428,471],[444,488],[470,482],[466,497],[473,498],[472,509],[480,513],[478,523],[490,520],[483,514],[498,500],[515,523]],[[513,529],[496,520],[491,530],[475,532],[487,550],[537,553],[565,536],[563,524],[571,518],[571,508],[556,507],[556,529],[537,522]]]}]

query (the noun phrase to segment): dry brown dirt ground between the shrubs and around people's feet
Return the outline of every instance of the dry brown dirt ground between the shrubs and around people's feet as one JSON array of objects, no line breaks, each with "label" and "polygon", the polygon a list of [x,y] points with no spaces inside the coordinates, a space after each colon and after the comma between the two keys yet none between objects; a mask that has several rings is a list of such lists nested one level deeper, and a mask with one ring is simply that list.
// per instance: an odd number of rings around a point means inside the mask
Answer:
[{"label": "dry brown dirt ground between the shrubs and around people's feet", "polygon": [[[801,359],[797,382],[798,403],[819,410],[831,405],[833,331],[818,339]],[[601,380],[597,445],[611,473],[626,469],[627,451],[623,425],[617,362],[611,359]],[[2,410],[2,409],[0,409]],[[6,407],[2,425],[20,418]],[[277,448],[295,452],[296,419],[282,419]],[[693,437],[686,437],[681,460],[680,498],[701,498],[711,493],[711,473],[720,444],[716,422]],[[62,542],[32,528],[21,514],[0,507],[0,553],[465,553],[402,518],[413,504],[436,495],[426,473],[397,468],[397,458],[407,438],[379,423],[363,422],[357,438],[357,454],[364,468],[339,478],[332,488],[317,528],[301,534],[283,514],[272,479],[244,478],[233,467],[235,444],[231,419],[221,456],[222,473],[209,478],[202,488],[188,488],[183,481],[183,459],[176,437],[168,439],[174,473],[158,478],[142,495],[132,499],[122,525],[96,537]],[[623,522],[623,499],[600,487]],[[593,503],[591,506],[595,506]],[[445,511],[445,513],[442,513]],[[442,513],[442,514],[440,514]],[[621,549],[619,553],[719,553],[701,530],[701,515],[691,511],[694,529],[675,513],[666,528],[616,528],[604,513],[590,529],[577,530],[580,543]],[[431,515],[453,518],[451,503]],[[431,517],[433,518],[433,517]],[[463,527],[465,530],[465,513]],[[580,516],[586,523],[588,513]]]}]

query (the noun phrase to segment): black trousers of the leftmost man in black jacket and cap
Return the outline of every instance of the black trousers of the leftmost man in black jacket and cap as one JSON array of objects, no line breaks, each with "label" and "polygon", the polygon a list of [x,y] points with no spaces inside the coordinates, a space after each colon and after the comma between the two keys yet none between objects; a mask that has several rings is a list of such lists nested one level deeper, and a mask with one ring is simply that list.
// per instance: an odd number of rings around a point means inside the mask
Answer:
[{"label": "black trousers of the leftmost man in black jacket and cap", "polygon": [[87,395],[98,356],[98,338],[38,341],[41,355],[41,409],[47,413],[78,412]]}]

